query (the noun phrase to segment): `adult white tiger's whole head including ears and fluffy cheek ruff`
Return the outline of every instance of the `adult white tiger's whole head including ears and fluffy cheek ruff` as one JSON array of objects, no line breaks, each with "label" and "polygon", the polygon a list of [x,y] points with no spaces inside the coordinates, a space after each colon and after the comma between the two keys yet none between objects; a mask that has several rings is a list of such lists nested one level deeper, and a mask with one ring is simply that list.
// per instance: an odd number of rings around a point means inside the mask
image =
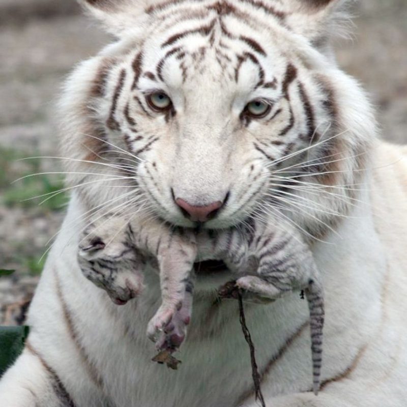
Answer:
[{"label": "adult white tiger's whole head including ears and fluffy cheek ruff", "polygon": [[343,1],[81,3],[118,38],[62,101],[69,168],[89,174],[70,182],[95,205],[210,228],[343,211],[374,133],[330,52]]}]

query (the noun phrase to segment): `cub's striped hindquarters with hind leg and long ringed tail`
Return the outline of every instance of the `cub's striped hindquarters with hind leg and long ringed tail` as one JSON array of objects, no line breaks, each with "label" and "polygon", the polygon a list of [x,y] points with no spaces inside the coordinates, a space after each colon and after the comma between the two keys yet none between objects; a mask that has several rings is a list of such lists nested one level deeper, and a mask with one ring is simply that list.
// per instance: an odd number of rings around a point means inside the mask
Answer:
[{"label": "cub's striped hindquarters with hind leg and long ringed tail", "polygon": [[[255,232],[249,238],[247,258],[255,259],[256,275],[238,278],[236,287],[241,290],[245,300],[254,302],[276,300],[294,290],[304,290],[310,312],[313,391],[316,394],[322,364],[322,282],[308,245],[303,242],[297,230],[289,225],[284,226],[285,230],[282,231],[275,230],[272,226],[254,225]],[[229,255],[229,263],[236,263],[234,257]],[[250,267],[250,264],[246,267]],[[224,289],[222,294],[225,295]]]}]

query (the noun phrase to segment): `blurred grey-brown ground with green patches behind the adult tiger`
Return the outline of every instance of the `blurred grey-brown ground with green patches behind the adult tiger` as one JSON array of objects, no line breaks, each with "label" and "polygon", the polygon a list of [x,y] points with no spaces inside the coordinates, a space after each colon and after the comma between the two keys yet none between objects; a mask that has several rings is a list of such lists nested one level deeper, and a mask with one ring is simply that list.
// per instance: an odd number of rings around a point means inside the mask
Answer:
[{"label": "blurred grey-brown ground with green patches behind the adult tiger", "polygon": [[[407,143],[407,1],[360,0],[354,34],[338,43],[341,67],[371,96],[383,138]],[[54,106],[67,73],[109,41],[74,0],[0,0],[0,325],[22,322],[47,241],[64,217]],[[43,257],[42,257],[43,256]]]}]

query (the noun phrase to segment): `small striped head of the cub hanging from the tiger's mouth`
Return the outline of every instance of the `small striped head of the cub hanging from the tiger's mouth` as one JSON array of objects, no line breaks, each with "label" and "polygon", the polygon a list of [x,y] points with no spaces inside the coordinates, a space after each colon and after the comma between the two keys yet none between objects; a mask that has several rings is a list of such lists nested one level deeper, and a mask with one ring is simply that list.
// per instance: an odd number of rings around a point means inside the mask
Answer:
[{"label": "small striped head of the cub hanging from the tiger's mouth", "polygon": [[143,261],[128,221],[119,216],[93,222],[80,236],[78,264],[83,275],[106,290],[115,304],[141,293]]}]

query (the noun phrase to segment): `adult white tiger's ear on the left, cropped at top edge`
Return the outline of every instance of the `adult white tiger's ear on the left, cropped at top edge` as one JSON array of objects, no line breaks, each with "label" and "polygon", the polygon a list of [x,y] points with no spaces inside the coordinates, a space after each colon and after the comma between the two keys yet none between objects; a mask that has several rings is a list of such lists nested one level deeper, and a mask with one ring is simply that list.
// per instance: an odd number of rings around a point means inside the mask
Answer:
[{"label": "adult white tiger's ear on the left, cropped at top edge", "polygon": [[77,0],[88,14],[102,22],[115,37],[140,27],[148,0]]}]

